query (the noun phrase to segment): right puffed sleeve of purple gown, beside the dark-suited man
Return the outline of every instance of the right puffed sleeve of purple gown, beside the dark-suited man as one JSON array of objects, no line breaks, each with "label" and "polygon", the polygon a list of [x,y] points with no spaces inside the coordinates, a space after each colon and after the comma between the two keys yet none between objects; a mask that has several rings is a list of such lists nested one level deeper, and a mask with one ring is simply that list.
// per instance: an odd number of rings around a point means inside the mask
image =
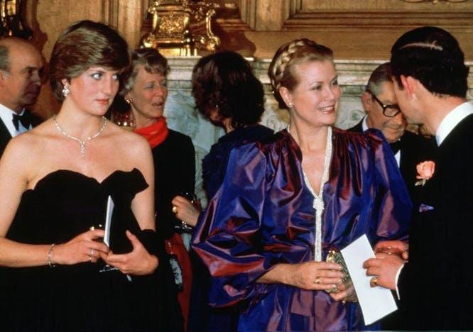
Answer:
[{"label": "right puffed sleeve of purple gown, beside the dark-suited man", "polygon": [[408,240],[408,227],[411,221],[412,203],[408,190],[399,171],[396,159],[386,140],[379,131],[368,131],[374,149],[376,167],[375,206],[373,226],[379,240]]}]

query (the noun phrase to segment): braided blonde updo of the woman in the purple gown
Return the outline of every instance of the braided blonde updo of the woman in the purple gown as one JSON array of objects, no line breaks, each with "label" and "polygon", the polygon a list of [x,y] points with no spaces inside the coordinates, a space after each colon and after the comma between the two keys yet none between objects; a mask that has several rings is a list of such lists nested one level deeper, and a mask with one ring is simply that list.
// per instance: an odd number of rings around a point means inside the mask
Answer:
[{"label": "braided blonde updo of the woman in the purple gown", "polygon": [[283,101],[279,89],[286,87],[292,91],[298,84],[294,66],[302,62],[324,60],[333,61],[332,50],[307,38],[295,39],[278,48],[269,65],[268,76],[274,97],[281,109],[287,109],[288,106]]}]

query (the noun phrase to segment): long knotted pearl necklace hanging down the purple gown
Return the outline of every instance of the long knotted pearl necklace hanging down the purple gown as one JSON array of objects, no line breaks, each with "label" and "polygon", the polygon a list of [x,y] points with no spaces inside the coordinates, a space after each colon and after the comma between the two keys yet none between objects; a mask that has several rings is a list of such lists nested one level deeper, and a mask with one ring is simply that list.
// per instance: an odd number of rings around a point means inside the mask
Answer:
[{"label": "long knotted pearl necklace hanging down the purple gown", "polygon": [[[288,126],[288,133],[289,126]],[[324,160],[324,171],[322,173],[322,180],[320,181],[319,194],[315,194],[314,189],[310,185],[310,182],[305,175],[303,170],[303,177],[305,185],[309,188],[310,192],[314,196],[312,203],[315,209],[315,243],[314,243],[314,260],[320,262],[322,260],[322,213],[325,209],[324,203],[324,184],[328,181],[330,160],[332,160],[332,127],[327,128],[327,144],[325,145],[325,160]]]}]

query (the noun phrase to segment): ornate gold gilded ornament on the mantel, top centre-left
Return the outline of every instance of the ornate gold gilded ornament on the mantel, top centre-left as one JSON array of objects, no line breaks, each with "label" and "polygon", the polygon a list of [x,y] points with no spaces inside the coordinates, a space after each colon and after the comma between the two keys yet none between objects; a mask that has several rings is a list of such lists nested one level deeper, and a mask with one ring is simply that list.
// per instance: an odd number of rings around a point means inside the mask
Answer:
[{"label": "ornate gold gilded ornament on the mantel, top centre-left", "polygon": [[[141,47],[158,48],[168,56],[196,55],[197,50],[214,52],[220,44],[211,28],[214,6],[205,1],[192,4],[188,0],[153,1],[148,8],[152,16],[151,32],[141,38]],[[205,27],[203,33],[200,26]]]}]

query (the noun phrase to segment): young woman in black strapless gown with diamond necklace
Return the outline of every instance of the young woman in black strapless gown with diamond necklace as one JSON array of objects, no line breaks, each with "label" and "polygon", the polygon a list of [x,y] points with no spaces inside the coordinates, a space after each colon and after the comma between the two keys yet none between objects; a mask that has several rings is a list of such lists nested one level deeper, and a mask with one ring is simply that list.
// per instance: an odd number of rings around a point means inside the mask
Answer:
[{"label": "young woman in black strapless gown with diamond necklace", "polygon": [[[149,145],[103,117],[127,65],[126,42],[102,23],[75,23],[55,44],[60,113],[12,139],[0,161],[2,330],[179,329],[178,309],[158,300],[168,267]],[[108,196],[110,248],[91,229],[104,224]],[[114,270],[101,272],[106,264]]]}]

